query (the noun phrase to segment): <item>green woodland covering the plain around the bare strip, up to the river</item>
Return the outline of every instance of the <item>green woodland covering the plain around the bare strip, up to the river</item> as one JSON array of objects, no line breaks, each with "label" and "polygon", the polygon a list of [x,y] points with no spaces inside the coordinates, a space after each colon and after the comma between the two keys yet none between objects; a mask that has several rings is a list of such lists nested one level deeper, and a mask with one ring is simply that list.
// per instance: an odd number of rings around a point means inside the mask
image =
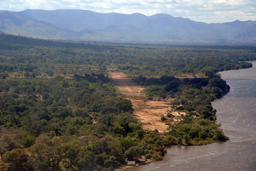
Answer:
[{"label": "green woodland covering the plain around the bare strip, up to the river", "polygon": [[[225,141],[211,101],[229,86],[218,71],[251,67],[255,46],[119,45],[0,34],[1,170],[112,171],[127,160],[161,160],[166,148]],[[143,130],[108,78],[119,70],[147,99],[185,111],[170,131]],[[174,76],[198,75],[177,79]]]}]

